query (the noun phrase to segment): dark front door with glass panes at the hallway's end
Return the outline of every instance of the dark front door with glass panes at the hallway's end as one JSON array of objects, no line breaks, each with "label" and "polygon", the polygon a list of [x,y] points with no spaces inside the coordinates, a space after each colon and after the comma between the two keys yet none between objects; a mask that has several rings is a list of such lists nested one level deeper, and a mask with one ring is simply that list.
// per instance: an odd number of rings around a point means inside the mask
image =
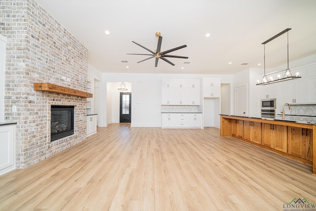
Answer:
[{"label": "dark front door with glass panes at the hallway's end", "polygon": [[130,123],[131,121],[131,92],[119,93],[119,122]]}]

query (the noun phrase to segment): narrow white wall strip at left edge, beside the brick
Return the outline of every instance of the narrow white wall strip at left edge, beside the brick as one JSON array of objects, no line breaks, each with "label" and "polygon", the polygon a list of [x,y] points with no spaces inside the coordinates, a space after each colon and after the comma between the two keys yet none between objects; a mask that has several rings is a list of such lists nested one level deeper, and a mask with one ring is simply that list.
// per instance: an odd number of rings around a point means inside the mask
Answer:
[{"label": "narrow white wall strip at left edge, beside the brick", "polygon": [[0,122],[4,121],[4,72],[6,37],[0,35]]}]

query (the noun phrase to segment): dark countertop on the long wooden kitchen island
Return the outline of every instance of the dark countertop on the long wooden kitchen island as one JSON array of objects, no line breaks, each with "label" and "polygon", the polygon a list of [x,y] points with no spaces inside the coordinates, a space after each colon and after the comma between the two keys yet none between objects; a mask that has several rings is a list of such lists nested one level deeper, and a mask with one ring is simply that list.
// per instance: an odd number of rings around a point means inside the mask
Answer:
[{"label": "dark countertop on the long wooden kitchen island", "polygon": [[301,124],[310,124],[310,125],[316,125],[316,117],[313,116],[296,116],[296,115],[285,115],[284,120],[282,119],[281,115],[277,115],[275,117],[264,117],[258,114],[234,114],[234,115],[227,115],[227,114],[220,114],[225,116],[231,116],[231,117],[245,117],[245,118],[254,118],[254,119],[261,119],[261,120],[273,120],[273,121],[284,121],[284,122],[293,122],[293,123],[301,123]]}]

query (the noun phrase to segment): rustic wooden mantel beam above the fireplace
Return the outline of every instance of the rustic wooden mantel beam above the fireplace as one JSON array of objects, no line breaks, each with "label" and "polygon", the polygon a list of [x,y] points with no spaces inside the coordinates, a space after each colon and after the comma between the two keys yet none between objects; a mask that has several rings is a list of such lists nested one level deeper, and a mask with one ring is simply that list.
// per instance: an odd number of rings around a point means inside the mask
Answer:
[{"label": "rustic wooden mantel beam above the fireplace", "polygon": [[34,83],[34,90],[36,91],[46,91],[46,92],[52,92],[52,93],[58,93],[58,94],[67,94],[77,97],[93,97],[92,93],[79,91],[72,88],[63,87],[60,85],[55,84],[48,84],[48,83]]}]

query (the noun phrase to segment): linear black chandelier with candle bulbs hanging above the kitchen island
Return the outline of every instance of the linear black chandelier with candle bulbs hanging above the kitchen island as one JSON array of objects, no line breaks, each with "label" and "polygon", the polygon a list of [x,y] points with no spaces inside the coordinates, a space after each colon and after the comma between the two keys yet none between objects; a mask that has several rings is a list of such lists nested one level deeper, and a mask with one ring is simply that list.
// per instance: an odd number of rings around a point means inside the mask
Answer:
[{"label": "linear black chandelier with candle bulbs hanging above the kitchen island", "polygon": [[[292,75],[291,70],[288,67],[288,31],[291,30],[289,28],[283,30],[282,32],[278,33],[277,35],[275,35],[274,37],[270,38],[269,40],[262,42],[263,46],[264,46],[264,51],[263,51],[263,58],[264,58],[264,75],[262,77],[261,82],[259,80],[257,80],[257,84],[256,85],[267,85],[267,84],[273,84],[273,83],[278,83],[278,82],[282,82],[282,81],[288,81],[288,80],[293,80],[293,79],[299,79],[302,78],[299,76],[299,73],[296,73],[295,76]],[[276,39],[278,36],[283,35],[285,32],[287,32],[287,69],[285,70],[281,70],[281,71],[277,71],[271,74],[267,74],[266,75],[266,43]],[[283,78],[281,78],[281,75],[278,73],[281,73],[284,71],[284,76]],[[276,75],[277,74],[277,78],[276,80],[273,79],[272,75]],[[268,80],[268,76],[270,76],[270,81]]]}]

